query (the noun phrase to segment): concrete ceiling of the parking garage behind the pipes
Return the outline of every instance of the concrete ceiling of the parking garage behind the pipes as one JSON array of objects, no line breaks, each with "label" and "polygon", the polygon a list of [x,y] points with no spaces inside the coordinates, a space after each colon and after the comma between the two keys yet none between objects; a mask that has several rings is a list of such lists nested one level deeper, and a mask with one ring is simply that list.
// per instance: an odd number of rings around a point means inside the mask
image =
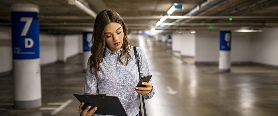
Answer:
[{"label": "concrete ceiling of the parking garage behind the pipes", "polygon": [[[122,17],[138,16],[164,16],[173,3],[182,3],[183,10],[176,10],[171,16],[182,16],[190,10],[201,5],[207,0],[79,0],[87,3],[96,13],[103,9],[116,10]],[[69,5],[67,0],[0,0],[0,25],[10,26],[10,6],[15,3],[32,3],[39,6],[40,28],[51,32],[81,32],[84,27],[92,27],[94,18],[75,7]],[[193,14],[193,16],[277,16],[272,19],[193,19],[180,20],[186,23],[278,23],[278,0],[223,0],[215,1],[204,11]],[[87,19],[51,19],[46,16],[77,16],[88,17]],[[148,30],[155,25],[159,19],[124,19],[131,30]],[[176,19],[167,19],[165,22],[174,22]],[[134,23],[144,24],[132,25]],[[57,24],[57,25],[56,25]],[[72,24],[72,25],[71,25]],[[79,25],[80,24],[80,25]],[[248,26],[248,25],[247,25]],[[277,27],[272,25],[271,27]],[[208,26],[171,26],[165,29],[208,29]],[[203,27],[203,28],[201,28]],[[227,27],[227,26],[225,26]],[[240,26],[237,26],[240,28]],[[244,26],[246,27],[246,26]],[[251,26],[249,26],[251,27]],[[255,27],[265,27],[255,26]],[[164,29],[164,28],[162,28]]]}]

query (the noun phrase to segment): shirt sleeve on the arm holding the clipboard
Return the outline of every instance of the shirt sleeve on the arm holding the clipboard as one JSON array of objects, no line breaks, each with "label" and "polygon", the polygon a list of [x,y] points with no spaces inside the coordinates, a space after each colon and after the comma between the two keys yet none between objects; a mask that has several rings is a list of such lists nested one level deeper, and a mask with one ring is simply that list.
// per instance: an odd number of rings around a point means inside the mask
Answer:
[{"label": "shirt sleeve on the arm holding the clipboard", "polygon": [[90,63],[87,63],[86,76],[85,76],[85,87],[84,93],[86,94],[98,94],[97,78],[94,74],[94,68],[90,71]]}]

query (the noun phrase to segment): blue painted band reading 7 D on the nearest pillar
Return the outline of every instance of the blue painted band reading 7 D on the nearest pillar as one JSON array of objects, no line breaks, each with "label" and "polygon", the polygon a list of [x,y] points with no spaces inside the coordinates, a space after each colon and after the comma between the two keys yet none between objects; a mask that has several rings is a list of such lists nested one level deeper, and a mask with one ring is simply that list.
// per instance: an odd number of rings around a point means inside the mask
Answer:
[{"label": "blue painted band reading 7 D on the nearest pillar", "polygon": [[37,12],[11,12],[13,59],[40,57]]}]

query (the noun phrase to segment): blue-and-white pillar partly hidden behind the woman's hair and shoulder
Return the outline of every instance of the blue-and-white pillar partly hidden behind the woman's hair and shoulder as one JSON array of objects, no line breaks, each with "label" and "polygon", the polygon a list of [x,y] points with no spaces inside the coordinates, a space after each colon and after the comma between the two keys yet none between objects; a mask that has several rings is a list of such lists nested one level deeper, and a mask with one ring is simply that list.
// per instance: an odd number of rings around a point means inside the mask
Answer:
[{"label": "blue-and-white pillar partly hidden behind the woman's hair and shoulder", "polygon": [[83,69],[86,70],[88,59],[91,56],[91,47],[93,45],[91,39],[93,36],[93,29],[83,30]]}]

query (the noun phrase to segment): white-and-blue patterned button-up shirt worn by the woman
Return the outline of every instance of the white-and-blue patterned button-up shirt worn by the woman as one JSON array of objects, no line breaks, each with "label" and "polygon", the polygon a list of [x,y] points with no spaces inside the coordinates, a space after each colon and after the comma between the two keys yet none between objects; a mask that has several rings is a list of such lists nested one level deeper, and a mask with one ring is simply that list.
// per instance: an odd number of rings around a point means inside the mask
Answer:
[{"label": "white-and-blue patterned button-up shirt worn by the woman", "polygon": [[[150,67],[144,51],[139,47],[136,47],[136,50],[138,53],[141,77],[150,75]],[[136,116],[139,113],[140,94],[133,92],[139,82],[139,72],[136,65],[133,46],[131,46],[130,49],[131,58],[128,61],[127,66],[125,65],[124,58],[122,60],[124,65],[120,63],[118,57],[120,53],[122,53],[122,49],[114,53],[105,47],[105,57],[103,58],[103,62],[100,63],[100,70],[97,72],[97,79],[95,74],[91,74],[89,62],[87,63],[84,93],[100,93],[107,94],[107,96],[118,96],[127,115]],[[94,73],[94,68],[92,71]],[[150,83],[153,85],[152,80],[150,80]],[[143,98],[150,99],[154,94],[155,88],[153,85],[153,90],[150,93],[143,95]]]}]

